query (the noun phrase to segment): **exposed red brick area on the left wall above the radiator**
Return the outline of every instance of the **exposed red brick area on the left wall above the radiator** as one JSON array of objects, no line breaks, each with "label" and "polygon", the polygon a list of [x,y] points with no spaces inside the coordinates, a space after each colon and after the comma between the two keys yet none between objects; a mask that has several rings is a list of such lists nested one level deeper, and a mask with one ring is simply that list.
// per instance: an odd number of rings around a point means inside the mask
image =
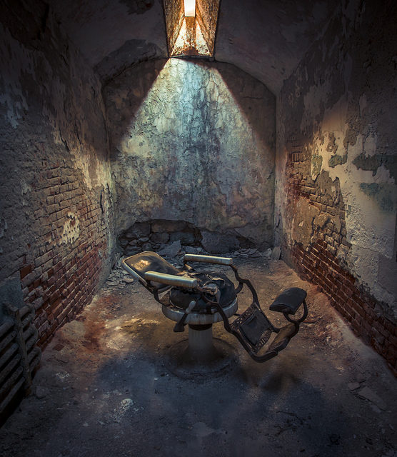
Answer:
[{"label": "exposed red brick area on the left wall above the radiator", "polygon": [[31,195],[39,205],[33,222],[39,237],[19,258],[24,301],[36,309],[41,346],[91,301],[109,231],[100,199],[90,196],[76,171],[59,163],[45,166],[35,176]]}]

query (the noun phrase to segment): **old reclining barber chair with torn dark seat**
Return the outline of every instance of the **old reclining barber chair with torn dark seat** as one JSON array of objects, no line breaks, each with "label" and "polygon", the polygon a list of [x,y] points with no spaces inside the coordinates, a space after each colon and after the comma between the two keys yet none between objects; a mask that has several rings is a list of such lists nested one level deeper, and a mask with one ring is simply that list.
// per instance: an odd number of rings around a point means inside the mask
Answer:
[{"label": "old reclining barber chair with torn dark seat", "polygon": [[[238,286],[224,273],[196,271],[188,262],[229,266]],[[287,322],[280,328],[274,326],[261,309],[251,281],[241,278],[232,258],[186,254],[184,268],[180,269],[159,254],[145,251],[124,258],[121,265],[153,294],[164,316],[176,322],[175,332],[189,326],[189,350],[198,358],[211,351],[213,323],[223,321],[225,330],[238,339],[254,361],[268,361],[288,346],[308,313],[306,291],[287,288],[269,307],[282,313]],[[252,303],[238,314],[237,298],[243,286],[251,291]],[[296,318],[302,305],[303,313]]]}]

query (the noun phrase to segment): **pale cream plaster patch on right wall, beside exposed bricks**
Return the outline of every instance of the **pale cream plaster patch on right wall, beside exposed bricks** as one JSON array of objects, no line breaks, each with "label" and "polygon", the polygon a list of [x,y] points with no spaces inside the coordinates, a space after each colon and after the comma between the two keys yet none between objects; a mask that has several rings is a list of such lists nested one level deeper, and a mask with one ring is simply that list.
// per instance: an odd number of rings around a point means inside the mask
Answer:
[{"label": "pale cream plaster patch on right wall, beside exposed bricks", "polygon": [[[391,303],[391,296],[381,286],[378,278],[379,254],[393,258],[396,214],[393,211],[383,211],[376,199],[366,194],[363,184],[393,184],[394,179],[385,166],[379,166],[375,176],[372,170],[363,170],[353,164],[354,159],[365,152],[366,156],[376,154],[376,135],[365,138],[359,134],[354,145],[348,149],[343,145],[343,139],[348,131],[346,122],[348,94],[345,94],[323,116],[321,129],[313,141],[313,153],[321,156],[321,170],[328,171],[333,181],[339,180],[343,202],[346,206],[347,240],[351,243],[347,256],[344,250],[338,252],[345,258],[348,268],[360,283],[368,286],[378,300]],[[366,96],[361,96],[360,109],[366,107]],[[330,166],[329,160],[335,154],[335,149],[327,150],[329,135],[335,136],[336,154],[345,158],[346,162]],[[312,165],[312,178],[316,179]],[[316,170],[318,172],[318,169]],[[393,300],[392,300],[393,301]]]}]

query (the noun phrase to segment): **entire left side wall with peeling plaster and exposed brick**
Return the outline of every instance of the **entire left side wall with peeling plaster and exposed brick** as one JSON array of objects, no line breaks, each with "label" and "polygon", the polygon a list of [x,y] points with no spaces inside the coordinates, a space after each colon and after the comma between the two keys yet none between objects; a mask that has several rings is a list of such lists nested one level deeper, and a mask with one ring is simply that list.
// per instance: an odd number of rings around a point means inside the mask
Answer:
[{"label": "entire left side wall with peeling plaster and exposed brick", "polygon": [[0,296],[19,281],[42,345],[109,272],[104,104],[48,5],[6,1],[0,21]]}]

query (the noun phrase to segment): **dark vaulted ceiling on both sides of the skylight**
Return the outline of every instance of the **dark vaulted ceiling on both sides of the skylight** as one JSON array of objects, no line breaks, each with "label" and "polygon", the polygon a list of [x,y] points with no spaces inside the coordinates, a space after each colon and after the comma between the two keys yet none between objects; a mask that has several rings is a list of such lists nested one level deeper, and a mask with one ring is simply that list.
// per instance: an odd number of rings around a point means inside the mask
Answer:
[{"label": "dark vaulted ceiling on both sides of the skylight", "polygon": [[[61,26],[103,81],[132,64],[168,57],[161,0],[50,0]],[[214,59],[255,76],[277,94],[336,0],[221,0]]]}]

